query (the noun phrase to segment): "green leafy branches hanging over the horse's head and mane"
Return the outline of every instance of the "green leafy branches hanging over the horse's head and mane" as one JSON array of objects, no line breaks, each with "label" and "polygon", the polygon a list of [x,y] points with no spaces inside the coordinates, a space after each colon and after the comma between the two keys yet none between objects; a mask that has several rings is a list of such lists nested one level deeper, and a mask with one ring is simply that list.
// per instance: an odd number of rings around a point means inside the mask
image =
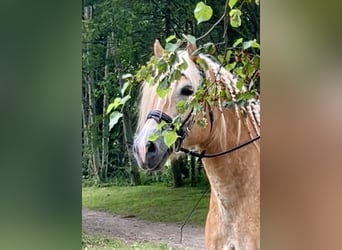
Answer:
[{"label": "green leafy branches hanging over the horse's head and mane", "polygon": [[[241,26],[242,11],[236,7],[237,0],[230,0],[228,2],[230,11],[226,8],[223,17],[230,17],[230,25],[233,28]],[[199,2],[194,10],[194,16],[197,23],[208,21],[212,16],[212,8],[203,2]],[[170,83],[179,80],[181,71],[187,68],[187,63],[178,58],[176,51],[183,44],[194,44],[201,38],[196,38],[189,34],[182,34],[182,38],[177,38],[176,35],[171,35],[165,39],[165,50],[161,58],[152,56],[150,60],[143,65],[137,73],[132,76],[133,82],[146,82],[149,85],[157,85],[157,95],[164,98],[170,91]],[[199,53],[207,53],[214,55],[216,52],[215,45],[211,42],[200,46],[193,55]],[[231,108],[234,106],[243,107],[258,98],[257,84],[259,79],[259,43],[256,39],[244,41],[243,37],[239,37],[233,43],[232,47],[226,47],[225,53],[217,55],[221,66],[231,71],[238,77],[237,88],[239,90],[236,97],[232,98],[227,94],[226,90],[221,89],[219,85],[212,84],[209,80],[203,80],[200,84],[196,94],[189,98],[186,102],[184,100],[177,103],[177,108],[180,115],[174,117],[172,126],[165,129],[166,124],[161,123],[154,135],[150,136],[150,141],[155,141],[162,136],[167,147],[174,145],[178,138],[177,131],[179,130],[182,120],[181,115],[185,110],[193,110],[193,113],[204,113],[205,104],[214,105],[216,100],[223,99],[223,107]],[[207,70],[207,65],[201,58],[196,59],[197,64],[200,65],[203,71]],[[203,117],[206,117],[203,115]],[[203,118],[199,124],[205,126],[207,121]]]}]

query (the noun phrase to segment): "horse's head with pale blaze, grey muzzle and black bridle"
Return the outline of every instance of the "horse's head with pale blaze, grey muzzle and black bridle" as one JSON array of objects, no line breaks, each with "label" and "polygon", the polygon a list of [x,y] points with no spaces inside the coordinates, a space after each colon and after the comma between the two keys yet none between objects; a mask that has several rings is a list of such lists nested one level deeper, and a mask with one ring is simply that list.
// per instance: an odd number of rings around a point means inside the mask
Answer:
[{"label": "horse's head with pale blaze, grey muzzle and black bridle", "polygon": [[[160,169],[180,145],[185,145],[186,147],[194,146],[209,135],[207,128],[196,125],[194,122],[196,117],[192,115],[191,109],[186,110],[182,114],[177,109],[177,103],[191,98],[203,80],[203,74],[195,63],[195,57],[192,56],[192,52],[195,49],[195,45],[188,45],[186,50],[177,52],[179,60],[185,61],[187,67],[181,71],[181,76],[178,80],[170,83],[170,91],[164,98],[160,98],[157,95],[156,84],[149,85],[143,83],[138,129],[133,145],[134,156],[139,166],[143,169]],[[156,40],[154,43],[155,57],[162,58],[163,53],[164,49],[159,41]],[[162,124],[162,131],[170,130],[175,117],[181,119],[182,125],[177,129],[178,139],[174,145],[168,147],[162,136],[159,136],[156,140],[150,140],[150,137],[161,126],[161,123],[164,124]]]}]

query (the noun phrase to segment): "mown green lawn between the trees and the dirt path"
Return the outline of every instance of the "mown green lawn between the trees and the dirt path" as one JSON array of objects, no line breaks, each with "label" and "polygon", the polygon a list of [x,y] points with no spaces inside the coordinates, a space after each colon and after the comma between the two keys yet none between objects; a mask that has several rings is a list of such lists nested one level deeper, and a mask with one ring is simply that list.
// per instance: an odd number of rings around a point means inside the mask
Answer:
[{"label": "mown green lawn between the trees and the dirt path", "polygon": [[[84,187],[82,205],[119,215],[134,215],[149,221],[182,223],[203,191],[165,186]],[[204,225],[208,198],[209,192],[200,201],[189,224]]]}]

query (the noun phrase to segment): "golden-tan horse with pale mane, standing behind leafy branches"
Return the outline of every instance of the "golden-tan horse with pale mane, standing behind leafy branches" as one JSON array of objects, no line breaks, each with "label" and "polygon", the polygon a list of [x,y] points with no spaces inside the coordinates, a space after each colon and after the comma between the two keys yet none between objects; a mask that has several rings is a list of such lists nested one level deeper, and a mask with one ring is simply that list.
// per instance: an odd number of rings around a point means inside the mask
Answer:
[{"label": "golden-tan horse with pale mane, standing behind leafy branches", "polygon": [[[225,88],[232,98],[239,89],[237,79],[210,56],[193,56],[196,45],[177,51],[185,60],[187,68],[181,78],[170,83],[171,91],[165,98],[156,94],[157,84],[144,83],[140,100],[140,114],[133,151],[139,166],[147,170],[161,168],[173,154],[163,139],[151,141],[161,121],[171,123],[179,115],[176,103],[196,93],[199,83],[206,78]],[[158,40],[154,43],[154,55],[163,56]],[[207,64],[205,72],[196,63],[199,57]],[[257,98],[258,99],[258,98]],[[192,114],[188,110],[183,118],[183,148],[196,148],[206,154],[224,152],[229,148],[260,135],[260,102],[254,99],[243,110],[237,105],[222,107],[221,100],[215,105],[206,105],[205,113]],[[244,112],[242,112],[244,111]],[[197,120],[207,119],[207,126],[199,126]],[[205,225],[205,248],[229,250],[260,249],[260,142],[253,141],[229,154],[202,158],[210,182],[210,204]]]}]

